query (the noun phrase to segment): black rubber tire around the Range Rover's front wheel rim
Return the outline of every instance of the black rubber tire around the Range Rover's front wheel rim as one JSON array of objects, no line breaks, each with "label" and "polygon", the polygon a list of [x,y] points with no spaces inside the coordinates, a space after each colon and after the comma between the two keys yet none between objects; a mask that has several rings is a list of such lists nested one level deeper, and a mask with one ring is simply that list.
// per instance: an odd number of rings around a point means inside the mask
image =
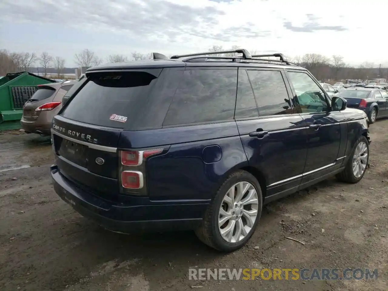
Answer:
[{"label": "black rubber tire around the Range Rover's front wheel rim", "polygon": [[[355,159],[356,150],[358,152],[360,149],[360,144],[366,145],[367,156],[364,159],[358,159],[358,161],[360,161],[360,163],[362,165],[365,165],[365,167],[362,170],[362,174],[360,176],[358,176],[358,175],[355,175],[355,173],[353,171],[353,161]],[[338,173],[336,175],[337,180],[339,180],[340,182],[346,182],[346,183],[359,182],[362,179],[362,177],[364,177],[364,175],[365,175],[368,161],[369,161],[369,143],[368,143],[368,140],[366,139],[366,137],[364,137],[364,135],[362,135],[357,140],[355,147],[352,151],[352,154],[350,155],[348,162],[346,163],[345,169],[341,173]]]}]

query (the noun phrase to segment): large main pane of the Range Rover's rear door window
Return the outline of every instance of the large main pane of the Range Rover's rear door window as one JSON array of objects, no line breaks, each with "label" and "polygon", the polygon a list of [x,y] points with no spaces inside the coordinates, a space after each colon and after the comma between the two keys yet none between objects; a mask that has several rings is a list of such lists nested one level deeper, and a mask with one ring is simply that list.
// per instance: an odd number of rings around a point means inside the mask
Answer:
[{"label": "large main pane of the Range Rover's rear door window", "polygon": [[260,116],[293,113],[281,71],[247,72]]}]

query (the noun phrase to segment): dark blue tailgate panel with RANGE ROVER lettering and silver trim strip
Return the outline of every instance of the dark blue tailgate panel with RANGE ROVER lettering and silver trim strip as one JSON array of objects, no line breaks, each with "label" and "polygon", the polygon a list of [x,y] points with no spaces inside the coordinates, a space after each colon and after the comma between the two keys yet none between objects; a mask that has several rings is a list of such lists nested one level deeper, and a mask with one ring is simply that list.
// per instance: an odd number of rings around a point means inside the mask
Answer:
[{"label": "dark blue tailgate panel with RANGE ROVER lettering and silver trim strip", "polygon": [[102,128],[55,116],[53,147],[59,171],[80,187],[114,199],[118,194],[117,145],[120,130]]}]

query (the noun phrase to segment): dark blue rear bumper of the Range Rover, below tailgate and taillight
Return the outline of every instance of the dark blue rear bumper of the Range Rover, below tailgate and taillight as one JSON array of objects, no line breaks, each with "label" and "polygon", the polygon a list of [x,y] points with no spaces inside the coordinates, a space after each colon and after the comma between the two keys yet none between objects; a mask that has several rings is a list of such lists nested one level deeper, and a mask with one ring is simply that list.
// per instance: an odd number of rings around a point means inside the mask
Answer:
[{"label": "dark blue rear bumper of the Range Rover, below tailgate and taillight", "polygon": [[136,203],[112,202],[79,188],[55,165],[51,166],[51,177],[62,200],[84,217],[115,232],[196,229],[209,205],[195,200],[151,201],[148,197],[136,197]]}]

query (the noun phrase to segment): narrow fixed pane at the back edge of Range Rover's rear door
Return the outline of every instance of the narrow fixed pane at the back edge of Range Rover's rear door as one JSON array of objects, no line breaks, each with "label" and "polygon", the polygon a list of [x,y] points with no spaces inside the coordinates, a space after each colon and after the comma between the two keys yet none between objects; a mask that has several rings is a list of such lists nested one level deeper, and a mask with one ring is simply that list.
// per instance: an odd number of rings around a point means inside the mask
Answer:
[{"label": "narrow fixed pane at the back edge of Range Rover's rear door", "polygon": [[234,118],[258,117],[255,96],[253,95],[251,83],[245,69],[239,69],[239,80],[237,83],[236,113]]}]

